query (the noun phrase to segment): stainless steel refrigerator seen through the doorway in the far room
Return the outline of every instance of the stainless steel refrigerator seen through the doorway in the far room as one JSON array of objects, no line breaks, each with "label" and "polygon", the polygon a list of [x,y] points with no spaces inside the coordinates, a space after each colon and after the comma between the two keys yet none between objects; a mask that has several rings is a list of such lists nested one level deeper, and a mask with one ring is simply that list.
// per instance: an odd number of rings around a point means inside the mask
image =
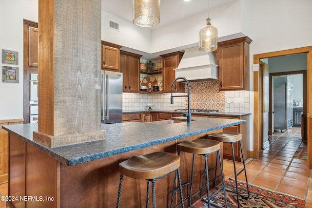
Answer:
[{"label": "stainless steel refrigerator seen through the doorway in the far room", "polygon": [[273,77],[274,131],[284,132],[292,127],[292,79],[289,75]]}]

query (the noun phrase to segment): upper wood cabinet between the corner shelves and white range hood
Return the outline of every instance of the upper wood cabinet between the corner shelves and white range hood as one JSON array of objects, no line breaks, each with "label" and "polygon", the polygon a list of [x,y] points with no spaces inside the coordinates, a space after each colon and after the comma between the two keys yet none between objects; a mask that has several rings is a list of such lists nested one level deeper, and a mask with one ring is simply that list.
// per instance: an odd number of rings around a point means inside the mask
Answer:
[{"label": "upper wood cabinet between the corner shelves and white range hood", "polygon": [[[162,57],[162,86],[163,93],[171,92],[171,84],[176,78],[176,71],[174,70],[180,63],[183,52],[174,52],[170,54],[161,55]],[[176,82],[173,86],[174,93],[184,93],[184,83]]]}]

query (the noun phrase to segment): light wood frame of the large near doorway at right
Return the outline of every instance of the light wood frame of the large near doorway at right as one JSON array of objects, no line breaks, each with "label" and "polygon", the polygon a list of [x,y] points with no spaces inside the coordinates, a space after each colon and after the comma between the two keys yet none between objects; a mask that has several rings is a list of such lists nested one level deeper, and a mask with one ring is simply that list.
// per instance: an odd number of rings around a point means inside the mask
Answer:
[{"label": "light wood frame of the large near doorway at right", "polygon": [[[292,54],[307,53],[307,80],[312,80],[312,46],[288,49],[283,51],[269,52],[254,55],[254,64],[259,64],[260,59],[279,57]],[[261,139],[260,132],[263,130],[262,114],[263,114],[263,92],[260,84],[263,81],[262,72],[259,67],[258,71],[254,71],[254,158],[260,157]],[[307,82],[307,113],[304,115],[307,121],[307,142],[308,142],[308,166],[312,168],[312,82]],[[311,115],[310,115],[311,114]]]}]

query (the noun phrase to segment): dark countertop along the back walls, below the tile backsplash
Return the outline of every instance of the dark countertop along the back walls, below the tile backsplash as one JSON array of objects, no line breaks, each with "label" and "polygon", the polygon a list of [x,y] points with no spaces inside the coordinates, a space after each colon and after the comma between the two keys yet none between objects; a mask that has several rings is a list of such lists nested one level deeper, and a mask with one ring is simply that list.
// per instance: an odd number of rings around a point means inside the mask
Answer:
[{"label": "dark countertop along the back walls, below the tile backsplash", "polygon": [[[185,112],[176,112],[175,110],[130,110],[130,111],[123,111],[123,114],[126,113],[187,113]],[[193,115],[219,115],[219,116],[233,116],[233,117],[242,117],[245,115],[251,115],[252,113],[234,113],[234,112],[216,112],[216,113],[202,113],[202,112],[191,112],[191,114]]]}]

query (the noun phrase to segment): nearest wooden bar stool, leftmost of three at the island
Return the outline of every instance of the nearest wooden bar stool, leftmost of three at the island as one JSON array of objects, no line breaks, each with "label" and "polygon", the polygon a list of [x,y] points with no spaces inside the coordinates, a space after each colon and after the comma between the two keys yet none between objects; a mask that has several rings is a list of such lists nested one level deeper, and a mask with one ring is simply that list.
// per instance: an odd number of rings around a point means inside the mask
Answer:
[{"label": "nearest wooden bar stool, leftmost of three at the island", "polygon": [[[119,208],[123,175],[135,179],[147,180],[146,208],[149,204],[149,189],[152,182],[153,208],[156,208],[155,181],[176,170],[179,187],[180,178],[180,157],[169,152],[153,152],[145,155],[134,155],[130,159],[119,164],[120,183],[118,189],[117,208]],[[176,181],[176,177],[175,177]],[[174,196],[174,192],[172,197]],[[184,208],[182,189],[180,189],[182,208]]]}]

